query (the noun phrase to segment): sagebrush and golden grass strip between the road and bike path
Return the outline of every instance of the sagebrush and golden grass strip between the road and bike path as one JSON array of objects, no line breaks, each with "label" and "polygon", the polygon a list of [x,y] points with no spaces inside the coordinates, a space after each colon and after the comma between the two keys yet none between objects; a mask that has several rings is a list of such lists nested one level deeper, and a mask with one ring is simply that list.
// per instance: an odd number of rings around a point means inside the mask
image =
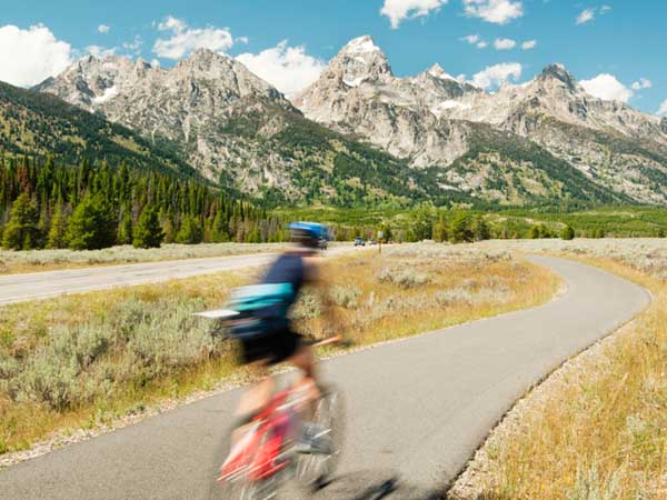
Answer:
[{"label": "sagebrush and golden grass strip between the road and bike path", "polygon": [[[335,322],[322,320],[312,290],[295,319],[310,337],[342,332],[352,347],[530,307],[559,283],[540,267],[477,246],[357,252],[327,261],[325,274]],[[0,452],[247,380],[236,347],[191,312],[219,307],[252,279],[228,272],[0,309]]]}]

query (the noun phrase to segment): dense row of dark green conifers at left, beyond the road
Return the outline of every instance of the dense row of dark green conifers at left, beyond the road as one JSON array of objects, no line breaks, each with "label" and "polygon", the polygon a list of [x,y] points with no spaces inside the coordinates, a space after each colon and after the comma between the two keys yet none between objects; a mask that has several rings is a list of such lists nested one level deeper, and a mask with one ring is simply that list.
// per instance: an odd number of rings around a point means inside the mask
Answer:
[{"label": "dense row of dark green conifers at left, beyond the road", "polygon": [[285,223],[200,182],[125,162],[0,158],[0,241],[6,249],[162,242],[285,241]]}]

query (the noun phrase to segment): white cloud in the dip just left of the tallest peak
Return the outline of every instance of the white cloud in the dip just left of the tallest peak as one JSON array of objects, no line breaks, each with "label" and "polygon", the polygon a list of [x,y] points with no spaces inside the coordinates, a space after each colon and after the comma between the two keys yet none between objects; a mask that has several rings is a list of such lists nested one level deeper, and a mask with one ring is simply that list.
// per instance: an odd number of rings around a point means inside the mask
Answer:
[{"label": "white cloud in the dip just left of the tallest peak", "polygon": [[259,53],[242,53],[237,60],[287,96],[315,82],[326,68],[322,60],[308,56],[305,47],[288,47],[287,40]]}]

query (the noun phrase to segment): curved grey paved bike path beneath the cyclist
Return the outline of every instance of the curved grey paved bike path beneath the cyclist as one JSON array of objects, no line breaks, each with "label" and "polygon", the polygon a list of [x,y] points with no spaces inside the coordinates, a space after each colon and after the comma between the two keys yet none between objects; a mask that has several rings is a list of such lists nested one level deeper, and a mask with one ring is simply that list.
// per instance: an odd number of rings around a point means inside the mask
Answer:
[{"label": "curved grey paved bike path beneath the cyclist", "polygon": [[[601,270],[532,259],[559,273],[567,292],[322,363],[346,394],[348,440],[337,480],[313,498],[437,498],[532,383],[649,302]],[[2,498],[208,498],[238,397],[223,392],[7,469]]]}]

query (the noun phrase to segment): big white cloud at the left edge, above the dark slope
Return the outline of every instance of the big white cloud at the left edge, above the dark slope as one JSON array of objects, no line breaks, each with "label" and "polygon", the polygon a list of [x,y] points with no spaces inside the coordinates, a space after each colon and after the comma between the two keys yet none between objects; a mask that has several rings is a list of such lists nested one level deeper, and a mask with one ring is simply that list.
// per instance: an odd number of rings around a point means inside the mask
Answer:
[{"label": "big white cloud at the left edge, above the dark slope", "polygon": [[30,87],[64,70],[72,62],[69,43],[58,40],[43,24],[22,30],[0,28],[0,80]]}]

